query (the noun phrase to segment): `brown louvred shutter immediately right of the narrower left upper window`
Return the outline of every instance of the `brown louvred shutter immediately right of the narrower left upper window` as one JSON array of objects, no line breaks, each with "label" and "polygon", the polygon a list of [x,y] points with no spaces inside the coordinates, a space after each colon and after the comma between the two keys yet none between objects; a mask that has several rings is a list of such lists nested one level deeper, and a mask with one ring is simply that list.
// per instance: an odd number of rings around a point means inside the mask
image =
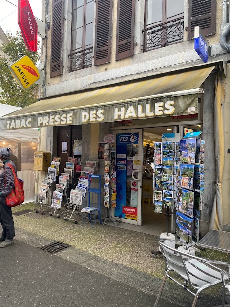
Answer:
[{"label": "brown louvred shutter immediately right of the narrower left upper window", "polygon": [[97,0],[94,65],[110,62],[113,1]]}]

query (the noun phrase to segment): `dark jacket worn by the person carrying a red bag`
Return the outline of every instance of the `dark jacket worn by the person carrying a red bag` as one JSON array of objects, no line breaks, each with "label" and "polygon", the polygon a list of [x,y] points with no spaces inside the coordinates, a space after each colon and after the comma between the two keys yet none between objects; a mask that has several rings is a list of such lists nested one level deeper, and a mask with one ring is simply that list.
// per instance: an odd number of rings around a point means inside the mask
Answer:
[{"label": "dark jacket worn by the person carrying a red bag", "polygon": [[[0,174],[0,192],[1,192],[1,196],[4,196],[4,197],[10,194],[10,192],[14,188],[14,175],[13,175],[13,172],[10,166],[8,166],[7,164],[11,164],[13,166],[15,173],[16,173],[16,177],[17,177],[17,170],[16,170],[16,166],[14,165],[14,162],[12,162],[11,160],[8,160],[6,164],[4,164],[1,174]],[[6,181],[5,181],[5,178],[6,178]],[[5,182],[6,182],[6,185],[5,185]]]}]

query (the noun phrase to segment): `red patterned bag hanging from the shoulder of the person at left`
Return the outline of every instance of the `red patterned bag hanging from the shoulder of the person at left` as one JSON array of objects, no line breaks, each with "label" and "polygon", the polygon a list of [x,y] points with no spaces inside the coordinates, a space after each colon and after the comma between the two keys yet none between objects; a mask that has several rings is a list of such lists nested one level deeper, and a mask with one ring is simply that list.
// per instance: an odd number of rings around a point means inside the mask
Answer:
[{"label": "red patterned bag hanging from the shoulder of the person at left", "polygon": [[[14,188],[12,189],[10,194],[8,194],[5,197],[5,203],[8,207],[16,207],[18,205],[21,205],[25,200],[24,189],[23,189],[24,181],[16,177],[15,170],[11,164],[6,164],[6,165],[8,165],[13,172]],[[6,176],[5,176],[5,184],[6,184]]]}]

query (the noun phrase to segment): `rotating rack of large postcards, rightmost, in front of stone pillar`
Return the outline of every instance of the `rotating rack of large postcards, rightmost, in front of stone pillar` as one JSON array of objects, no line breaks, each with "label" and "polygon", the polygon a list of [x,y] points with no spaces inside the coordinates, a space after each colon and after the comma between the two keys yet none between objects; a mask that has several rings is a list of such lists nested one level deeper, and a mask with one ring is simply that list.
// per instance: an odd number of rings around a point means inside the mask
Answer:
[{"label": "rotating rack of large postcards, rightmost, in front of stone pillar", "polygon": [[176,234],[192,244],[199,242],[199,221],[204,193],[204,141],[180,140],[176,177]]}]

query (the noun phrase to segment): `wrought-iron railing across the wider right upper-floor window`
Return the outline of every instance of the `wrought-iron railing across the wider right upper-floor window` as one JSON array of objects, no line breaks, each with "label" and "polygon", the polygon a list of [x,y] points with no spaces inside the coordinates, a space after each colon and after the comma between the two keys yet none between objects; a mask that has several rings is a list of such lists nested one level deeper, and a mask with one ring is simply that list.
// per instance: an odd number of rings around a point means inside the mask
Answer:
[{"label": "wrought-iron railing across the wider right upper-floor window", "polygon": [[144,32],[144,52],[179,43],[183,41],[184,37],[184,18],[148,27],[142,32]]}]

